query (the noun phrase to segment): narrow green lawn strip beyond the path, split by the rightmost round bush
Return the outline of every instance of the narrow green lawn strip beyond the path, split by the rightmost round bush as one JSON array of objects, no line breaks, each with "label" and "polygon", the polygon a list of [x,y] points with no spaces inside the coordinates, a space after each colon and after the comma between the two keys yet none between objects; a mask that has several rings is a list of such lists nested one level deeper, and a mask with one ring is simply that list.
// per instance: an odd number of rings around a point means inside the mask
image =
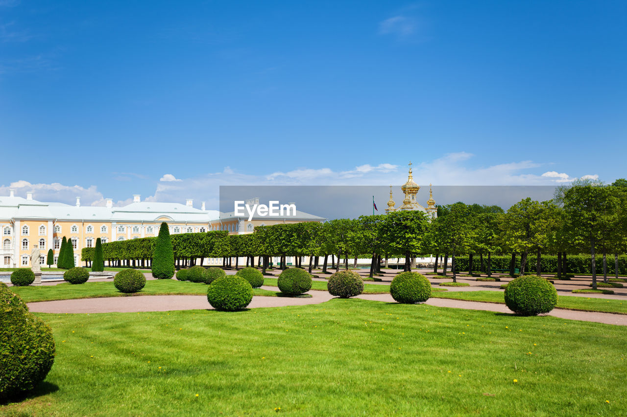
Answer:
[{"label": "narrow green lawn strip beyond the path, split by the rightmost round bush", "polygon": [[[502,291],[450,291],[438,293],[431,297],[505,304]],[[559,296],[557,298],[557,308],[627,314],[627,297],[625,301],[622,301],[593,297]]]}]

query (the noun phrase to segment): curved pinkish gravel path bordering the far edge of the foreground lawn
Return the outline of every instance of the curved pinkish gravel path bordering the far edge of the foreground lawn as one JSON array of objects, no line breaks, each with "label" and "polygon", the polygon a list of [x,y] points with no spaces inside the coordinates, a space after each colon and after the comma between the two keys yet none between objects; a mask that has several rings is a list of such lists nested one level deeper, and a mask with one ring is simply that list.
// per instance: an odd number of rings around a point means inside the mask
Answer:
[{"label": "curved pinkish gravel path bordering the far edge of the foreground lawn", "polygon": [[[261,287],[276,290],[276,287]],[[311,298],[291,297],[253,297],[249,308],[285,307],[320,304],[334,297],[327,291],[310,291]],[[390,294],[362,294],[358,298],[371,301],[395,302]],[[494,311],[511,313],[504,304],[489,302],[461,301],[453,299],[431,298],[426,304],[436,307],[451,307],[468,310]],[[206,296],[135,296],[135,297],[103,297],[87,299],[71,299],[59,301],[41,301],[28,304],[31,312],[46,313],[105,313],[105,312],[147,312],[176,310],[208,310],[212,309]],[[549,316],[562,319],[591,321],[604,324],[627,326],[627,315],[602,312],[587,312],[554,309]]]}]

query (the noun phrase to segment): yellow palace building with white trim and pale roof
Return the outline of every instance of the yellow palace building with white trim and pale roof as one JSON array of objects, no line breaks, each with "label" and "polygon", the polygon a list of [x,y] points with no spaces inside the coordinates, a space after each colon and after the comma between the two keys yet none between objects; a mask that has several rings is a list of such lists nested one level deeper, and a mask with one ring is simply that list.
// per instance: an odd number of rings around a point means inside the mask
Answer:
[{"label": "yellow palace building with white trim and pale roof", "polygon": [[[26,198],[17,197],[9,190],[8,197],[0,197],[0,230],[2,245],[0,260],[4,268],[30,267],[33,245],[41,252],[40,262],[45,264],[49,249],[56,259],[63,237],[71,241],[75,264],[80,265],[83,247],[93,247],[100,237],[103,243],[115,240],[138,239],[159,234],[159,226],[167,222],[171,234],[226,230],[229,234],[248,234],[258,225],[278,223],[324,222],[325,219],[296,211],[290,217],[253,217],[223,214],[218,210],[194,208],[193,200],[181,203],[141,201],[140,195],[123,207],[113,207],[107,198],[105,207],[82,206],[76,197],[75,205],[40,202],[27,192]],[[246,203],[258,203],[258,198]]]}]

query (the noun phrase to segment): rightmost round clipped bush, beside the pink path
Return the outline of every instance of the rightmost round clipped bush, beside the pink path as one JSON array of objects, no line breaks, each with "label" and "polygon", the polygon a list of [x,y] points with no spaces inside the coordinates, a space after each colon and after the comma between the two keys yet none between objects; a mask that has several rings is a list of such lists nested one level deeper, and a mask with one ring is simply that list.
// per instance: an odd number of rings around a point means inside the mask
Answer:
[{"label": "rightmost round clipped bush, beside the pink path", "polygon": [[521,316],[547,313],[557,305],[557,291],[551,282],[536,275],[512,279],[505,288],[505,304]]}]

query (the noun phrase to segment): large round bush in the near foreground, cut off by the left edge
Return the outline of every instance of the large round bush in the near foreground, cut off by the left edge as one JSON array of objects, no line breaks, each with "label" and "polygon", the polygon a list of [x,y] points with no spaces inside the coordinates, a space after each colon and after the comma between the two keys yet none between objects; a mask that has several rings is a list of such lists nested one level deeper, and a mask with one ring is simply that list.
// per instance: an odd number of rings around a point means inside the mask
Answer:
[{"label": "large round bush in the near foreground, cut off by the left edge", "polygon": [[37,386],[54,361],[50,327],[0,282],[0,403]]}]

